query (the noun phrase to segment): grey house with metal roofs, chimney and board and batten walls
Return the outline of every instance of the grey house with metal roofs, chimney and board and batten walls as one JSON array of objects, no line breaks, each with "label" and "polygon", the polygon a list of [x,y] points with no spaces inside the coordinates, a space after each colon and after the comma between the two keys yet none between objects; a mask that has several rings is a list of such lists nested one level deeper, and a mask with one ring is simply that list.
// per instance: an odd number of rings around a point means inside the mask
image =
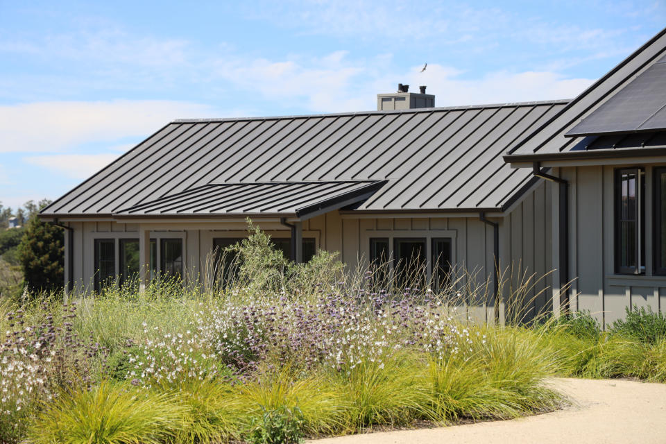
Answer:
[{"label": "grey house with metal roofs, chimney and board and batten walls", "polygon": [[250,217],[297,261],[454,264],[495,292],[514,266],[546,275],[534,313],[608,323],[666,305],[663,60],[666,30],[571,101],[434,108],[400,85],[371,112],[173,121],[40,215],[68,232],[70,291],[196,275]]}]

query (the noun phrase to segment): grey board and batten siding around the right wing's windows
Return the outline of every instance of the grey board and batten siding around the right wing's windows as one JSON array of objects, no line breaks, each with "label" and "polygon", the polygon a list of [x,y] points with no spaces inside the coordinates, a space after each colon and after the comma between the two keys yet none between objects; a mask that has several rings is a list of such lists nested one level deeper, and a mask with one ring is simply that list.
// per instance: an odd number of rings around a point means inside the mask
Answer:
[{"label": "grey board and batten siding around the right wing's windows", "polygon": [[[570,183],[570,309],[589,310],[604,328],[623,318],[626,307],[650,306],[654,311],[664,311],[666,307],[666,276],[652,273],[653,167],[649,165],[643,166],[646,272],[644,275],[615,273],[615,169],[635,166],[561,167],[559,171]],[[557,192],[554,189],[554,198]]]}]

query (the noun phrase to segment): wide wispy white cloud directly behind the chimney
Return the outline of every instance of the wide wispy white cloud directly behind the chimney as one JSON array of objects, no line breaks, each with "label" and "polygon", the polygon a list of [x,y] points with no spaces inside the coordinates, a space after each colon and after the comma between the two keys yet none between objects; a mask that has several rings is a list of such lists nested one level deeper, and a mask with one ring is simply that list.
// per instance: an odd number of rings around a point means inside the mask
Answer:
[{"label": "wide wispy white cloud directly behind the chimney", "polygon": [[348,61],[343,51],[309,60],[226,60],[219,76],[239,89],[259,92],[267,101],[283,101],[312,112],[348,112],[373,109],[378,93],[395,91],[398,83],[427,85],[444,105],[476,105],[547,99],[571,99],[592,84],[589,78],[567,78],[555,71],[495,71],[474,77],[438,64],[407,72],[391,69],[386,55],[373,60]]}]

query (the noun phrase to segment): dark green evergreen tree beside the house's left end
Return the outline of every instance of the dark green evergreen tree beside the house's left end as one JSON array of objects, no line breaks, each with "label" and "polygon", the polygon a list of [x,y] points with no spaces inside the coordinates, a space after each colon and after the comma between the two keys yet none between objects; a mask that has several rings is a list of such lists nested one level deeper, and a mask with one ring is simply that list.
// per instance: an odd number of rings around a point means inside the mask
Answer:
[{"label": "dark green evergreen tree beside the house's left end", "polygon": [[19,262],[29,289],[61,289],[65,280],[65,235],[62,229],[40,221],[37,216],[31,217],[19,245]]}]

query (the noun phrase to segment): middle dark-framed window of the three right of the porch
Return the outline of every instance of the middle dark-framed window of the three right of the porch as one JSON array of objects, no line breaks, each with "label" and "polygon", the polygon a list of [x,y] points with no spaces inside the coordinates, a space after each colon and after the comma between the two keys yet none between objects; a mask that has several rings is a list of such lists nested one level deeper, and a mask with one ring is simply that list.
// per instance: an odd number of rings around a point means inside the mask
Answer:
[{"label": "middle dark-framed window of the three right of the porch", "polygon": [[396,286],[403,288],[418,285],[423,288],[426,272],[425,238],[393,239],[393,256]]}]

